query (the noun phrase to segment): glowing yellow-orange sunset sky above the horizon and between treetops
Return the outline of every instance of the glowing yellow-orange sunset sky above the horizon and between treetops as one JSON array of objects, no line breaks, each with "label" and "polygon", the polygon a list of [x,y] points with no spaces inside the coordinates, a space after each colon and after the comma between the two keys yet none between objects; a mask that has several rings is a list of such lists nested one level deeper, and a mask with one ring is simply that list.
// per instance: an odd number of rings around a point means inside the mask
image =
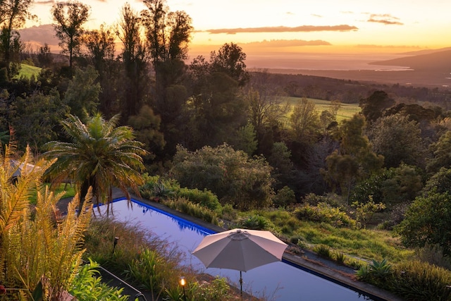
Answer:
[{"label": "glowing yellow-orange sunset sky above the horizon and between treetops", "polygon": [[[81,0],[91,7],[89,27],[111,25],[125,0]],[[142,1],[128,1],[136,11]],[[36,0],[39,17],[52,23],[54,1]],[[226,42],[247,51],[400,53],[451,46],[450,0],[168,0],[170,11],[192,18],[190,49]],[[51,44],[51,43],[50,43]],[[216,49],[218,49],[216,47]]]}]

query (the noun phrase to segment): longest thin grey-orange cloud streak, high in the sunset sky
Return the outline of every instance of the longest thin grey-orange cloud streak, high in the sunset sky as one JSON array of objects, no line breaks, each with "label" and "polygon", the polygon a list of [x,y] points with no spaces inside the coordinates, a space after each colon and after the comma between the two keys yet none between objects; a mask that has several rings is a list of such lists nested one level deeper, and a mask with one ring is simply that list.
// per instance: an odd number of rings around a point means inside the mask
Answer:
[{"label": "longest thin grey-orange cloud streak, high in the sunset sky", "polygon": [[236,33],[243,32],[316,32],[316,31],[350,31],[358,30],[359,28],[351,25],[327,25],[327,26],[313,26],[313,25],[302,25],[297,27],[248,27],[248,28],[224,28],[217,30],[205,30],[210,34],[221,34],[226,33],[228,35],[235,35]]}]

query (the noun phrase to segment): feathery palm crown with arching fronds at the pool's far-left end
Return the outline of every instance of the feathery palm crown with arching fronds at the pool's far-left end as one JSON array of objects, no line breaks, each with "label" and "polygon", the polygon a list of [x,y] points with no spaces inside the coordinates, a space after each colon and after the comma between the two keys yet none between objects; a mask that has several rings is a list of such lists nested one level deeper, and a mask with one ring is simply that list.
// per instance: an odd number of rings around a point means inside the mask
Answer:
[{"label": "feathery palm crown with arching fronds at the pool's far-left end", "polygon": [[130,200],[128,188],[137,195],[142,185],[140,171],[144,169],[141,155],[147,154],[142,143],[134,140],[132,128],[118,126],[119,116],[106,121],[100,113],[87,116],[82,123],[77,116],[69,115],[61,121],[70,142],[51,141],[42,156],[58,161],[48,170],[53,183],[73,180],[80,197],[92,186],[97,204],[110,204],[112,188],[120,188]]}]

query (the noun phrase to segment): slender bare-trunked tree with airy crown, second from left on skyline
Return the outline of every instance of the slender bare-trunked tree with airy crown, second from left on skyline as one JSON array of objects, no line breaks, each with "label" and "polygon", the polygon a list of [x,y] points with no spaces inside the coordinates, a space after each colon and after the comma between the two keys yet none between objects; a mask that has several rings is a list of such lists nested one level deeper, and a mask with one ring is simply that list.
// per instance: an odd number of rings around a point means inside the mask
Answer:
[{"label": "slender bare-trunked tree with airy crown, second from left on skyline", "polygon": [[69,68],[72,70],[73,56],[80,54],[82,37],[85,33],[83,25],[89,17],[90,7],[76,0],[57,2],[51,8],[51,15],[56,22],[54,29],[60,40],[61,53],[69,54]]}]

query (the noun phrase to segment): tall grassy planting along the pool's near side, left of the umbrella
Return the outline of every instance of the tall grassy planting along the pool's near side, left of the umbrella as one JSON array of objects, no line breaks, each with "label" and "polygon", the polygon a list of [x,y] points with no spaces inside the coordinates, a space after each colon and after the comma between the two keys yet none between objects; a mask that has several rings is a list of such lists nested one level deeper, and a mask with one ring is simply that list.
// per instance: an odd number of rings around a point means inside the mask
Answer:
[{"label": "tall grassy planting along the pool's near side, left of the umbrella", "polygon": [[[115,238],[118,238],[116,245]],[[85,241],[85,257],[113,274],[126,276],[128,283],[134,286],[152,287],[155,297],[164,295],[164,288],[178,286],[181,274],[190,274],[190,271],[182,271],[179,265],[183,253],[176,245],[168,244],[130,221],[99,216],[92,220]]]}]

